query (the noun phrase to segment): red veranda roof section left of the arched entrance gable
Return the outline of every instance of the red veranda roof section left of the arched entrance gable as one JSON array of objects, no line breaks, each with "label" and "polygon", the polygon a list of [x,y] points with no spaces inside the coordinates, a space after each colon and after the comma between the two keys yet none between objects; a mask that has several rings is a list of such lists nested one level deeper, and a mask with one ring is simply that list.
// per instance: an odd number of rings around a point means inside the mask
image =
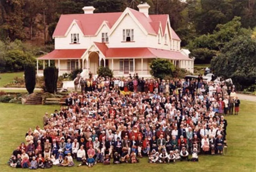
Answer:
[{"label": "red veranda roof section left of the arched entrance gable", "polygon": [[55,49],[52,52],[39,57],[39,60],[48,59],[78,59],[81,58],[86,49]]}]

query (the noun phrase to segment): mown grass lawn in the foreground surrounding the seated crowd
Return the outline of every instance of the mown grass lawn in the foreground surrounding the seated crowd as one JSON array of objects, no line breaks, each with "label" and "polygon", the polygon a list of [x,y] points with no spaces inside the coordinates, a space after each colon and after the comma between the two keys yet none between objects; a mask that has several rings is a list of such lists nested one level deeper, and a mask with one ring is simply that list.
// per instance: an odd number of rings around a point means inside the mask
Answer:
[{"label": "mown grass lawn in the foreground surrounding the seated crowd", "polygon": [[[227,140],[228,151],[224,156],[199,155],[199,162],[177,162],[173,164],[148,164],[147,158],[141,159],[138,164],[102,165],[93,168],[83,167],[53,167],[52,169],[37,171],[93,171],[93,172],[255,172],[256,171],[256,105],[254,102],[241,101],[239,116],[228,116]],[[20,172],[28,169],[11,168],[5,163],[8,161],[13,149],[25,141],[25,133],[29,127],[43,125],[45,112],[53,113],[59,106],[46,105],[18,105],[0,103],[0,171]]]}]

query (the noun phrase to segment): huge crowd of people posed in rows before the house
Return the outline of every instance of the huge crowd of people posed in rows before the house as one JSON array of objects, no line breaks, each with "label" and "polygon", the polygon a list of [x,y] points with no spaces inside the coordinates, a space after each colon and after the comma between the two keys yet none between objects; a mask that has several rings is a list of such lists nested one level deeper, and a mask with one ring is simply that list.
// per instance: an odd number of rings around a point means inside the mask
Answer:
[{"label": "huge crowd of people posed in rows before the house", "polygon": [[[65,106],[45,113],[44,127],[28,129],[8,162],[16,168],[71,167],[97,163],[198,161],[222,154],[225,115],[238,115],[234,86],[196,80],[76,78]],[[189,158],[189,156],[191,158]]]}]

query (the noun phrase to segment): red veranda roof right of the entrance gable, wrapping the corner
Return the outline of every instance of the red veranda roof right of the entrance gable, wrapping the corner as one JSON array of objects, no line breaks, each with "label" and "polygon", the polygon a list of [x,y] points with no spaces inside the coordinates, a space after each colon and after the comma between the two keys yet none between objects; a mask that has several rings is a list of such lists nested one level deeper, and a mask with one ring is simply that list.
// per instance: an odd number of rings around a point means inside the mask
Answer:
[{"label": "red veranda roof right of the entrance gable, wrapping the corner", "polygon": [[157,48],[108,48],[107,58],[168,58],[174,60],[192,60],[179,51],[164,50]]}]

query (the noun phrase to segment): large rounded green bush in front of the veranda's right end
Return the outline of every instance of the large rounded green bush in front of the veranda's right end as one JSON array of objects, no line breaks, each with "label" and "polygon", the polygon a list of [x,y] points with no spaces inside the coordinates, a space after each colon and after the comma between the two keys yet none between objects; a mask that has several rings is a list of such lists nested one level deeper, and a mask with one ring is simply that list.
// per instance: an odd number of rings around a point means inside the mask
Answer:
[{"label": "large rounded green bush in front of the veranda's right end", "polygon": [[173,77],[173,71],[175,70],[175,66],[171,61],[162,58],[156,58],[150,63],[150,74],[155,78],[163,79],[166,76]]}]

